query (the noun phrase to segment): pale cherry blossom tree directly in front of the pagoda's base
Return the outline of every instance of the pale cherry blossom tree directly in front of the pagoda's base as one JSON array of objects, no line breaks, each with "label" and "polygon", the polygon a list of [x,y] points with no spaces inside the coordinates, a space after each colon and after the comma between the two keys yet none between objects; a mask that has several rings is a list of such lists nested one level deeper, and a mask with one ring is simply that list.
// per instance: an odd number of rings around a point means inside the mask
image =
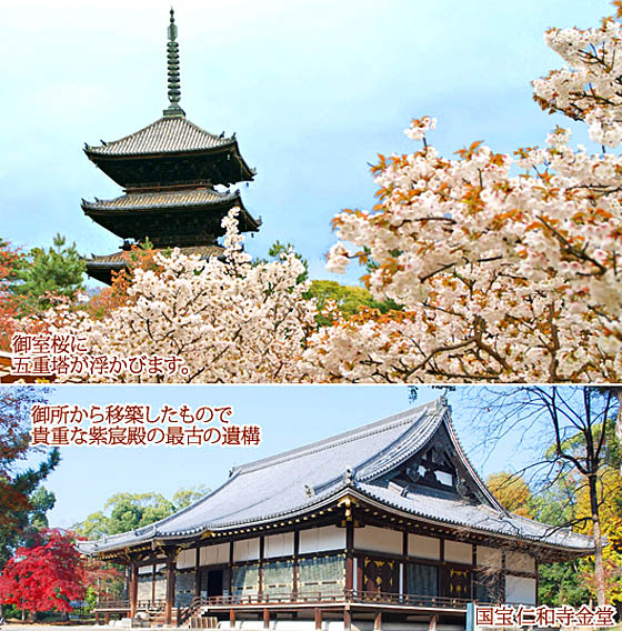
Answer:
[{"label": "pale cherry blossom tree directly in front of the pagoda's base", "polygon": [[[303,263],[293,252],[251,264],[234,209],[223,219],[223,259],[154,256],[156,269],[133,270],[129,300],[103,318],[68,308],[48,313],[50,331],[87,338],[89,352],[175,355],[185,373],[99,378],[104,381],[297,381],[298,360],[314,328],[314,301],[303,299]],[[68,379],[97,377],[67,375]]]}]

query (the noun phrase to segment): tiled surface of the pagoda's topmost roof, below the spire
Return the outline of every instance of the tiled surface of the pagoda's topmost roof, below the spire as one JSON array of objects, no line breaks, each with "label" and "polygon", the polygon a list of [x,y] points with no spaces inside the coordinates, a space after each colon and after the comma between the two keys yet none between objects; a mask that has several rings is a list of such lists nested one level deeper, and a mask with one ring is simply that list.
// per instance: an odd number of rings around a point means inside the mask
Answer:
[{"label": "tiled surface of the pagoda's topmost roof, below the spire", "polygon": [[97,156],[174,153],[218,149],[234,143],[234,139],[214,136],[185,117],[169,117],[100,147],[87,146],[87,152]]}]

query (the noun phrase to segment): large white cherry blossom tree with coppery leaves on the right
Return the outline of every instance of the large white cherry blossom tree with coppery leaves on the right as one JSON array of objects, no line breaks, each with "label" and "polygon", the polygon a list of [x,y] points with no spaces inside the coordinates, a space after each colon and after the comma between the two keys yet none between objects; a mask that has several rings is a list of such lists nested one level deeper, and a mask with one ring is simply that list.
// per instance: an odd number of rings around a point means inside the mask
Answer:
[{"label": "large white cherry blossom tree with coppery leaves on the right", "polygon": [[[609,147],[622,140],[621,28],[608,18],[549,31],[570,68],[534,82],[542,107],[585,121]],[[358,259],[374,298],[404,309],[319,331],[310,378],[620,381],[622,158],[573,149],[556,128],[543,148],[509,156],[474,142],[448,159],[428,144],[435,122],[405,130],[419,150],[380,157],[372,211],[334,219],[329,269]]]}]

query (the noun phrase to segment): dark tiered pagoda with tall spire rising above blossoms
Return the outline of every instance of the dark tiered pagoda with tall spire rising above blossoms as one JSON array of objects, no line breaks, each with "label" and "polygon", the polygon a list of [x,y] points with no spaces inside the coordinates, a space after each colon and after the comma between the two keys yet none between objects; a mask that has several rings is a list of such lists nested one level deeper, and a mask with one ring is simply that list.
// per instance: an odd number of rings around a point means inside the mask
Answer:
[{"label": "dark tiered pagoda with tall spire rising above blossoms", "polygon": [[[259,229],[242,204],[240,192],[215,190],[253,179],[242,158],[235,134],[214,136],[185,118],[179,102],[179,44],[171,9],[168,29],[169,107],[150,126],[84,152],[107,176],[123,187],[111,200],[82,200],[82,210],[93,221],[121,237],[123,250],[147,239],[156,249],[178,247],[183,253],[208,258],[222,251],[217,239],[224,231],[221,220],[239,207],[242,232]],[[114,270],[126,267],[123,252],[92,256],[90,277],[110,283]]]}]

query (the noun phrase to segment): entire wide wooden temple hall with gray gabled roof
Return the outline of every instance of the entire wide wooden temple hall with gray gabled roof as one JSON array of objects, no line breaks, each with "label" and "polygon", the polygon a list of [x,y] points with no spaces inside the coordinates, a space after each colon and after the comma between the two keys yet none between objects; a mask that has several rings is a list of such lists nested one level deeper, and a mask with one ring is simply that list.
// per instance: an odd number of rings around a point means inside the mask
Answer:
[{"label": "entire wide wooden temple hall with gray gabled roof", "polygon": [[535,604],[540,563],[593,553],[499,503],[444,398],[238,467],[167,519],[79,545],[129,567],[129,599],[100,612],[310,631],[464,628],[469,602]]}]

